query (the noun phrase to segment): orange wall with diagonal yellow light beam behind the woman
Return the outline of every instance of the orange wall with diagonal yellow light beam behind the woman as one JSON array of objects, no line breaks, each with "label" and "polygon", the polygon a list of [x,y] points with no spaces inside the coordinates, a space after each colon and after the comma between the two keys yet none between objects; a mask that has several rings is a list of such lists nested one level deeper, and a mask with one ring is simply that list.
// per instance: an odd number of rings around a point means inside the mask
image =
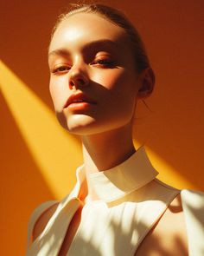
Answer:
[{"label": "orange wall with diagonal yellow light beam behind the woman", "polygon": [[[1,1],[1,255],[24,255],[30,213],[69,193],[82,162],[48,94],[49,35],[67,3]],[[204,190],[204,2],[111,4],[136,24],[156,72],[151,111],[138,104],[136,146],[146,145],[163,181]]]}]

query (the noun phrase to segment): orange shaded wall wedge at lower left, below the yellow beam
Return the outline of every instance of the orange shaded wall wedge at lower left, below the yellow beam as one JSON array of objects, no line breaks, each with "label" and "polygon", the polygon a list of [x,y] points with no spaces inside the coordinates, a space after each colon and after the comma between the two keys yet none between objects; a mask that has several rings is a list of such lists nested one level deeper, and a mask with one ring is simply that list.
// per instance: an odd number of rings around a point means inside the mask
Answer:
[{"label": "orange shaded wall wedge at lower left, below the yellow beam", "polygon": [[[24,255],[29,215],[42,201],[53,199],[1,95],[1,253]],[[8,242],[12,240],[12,246]]]}]

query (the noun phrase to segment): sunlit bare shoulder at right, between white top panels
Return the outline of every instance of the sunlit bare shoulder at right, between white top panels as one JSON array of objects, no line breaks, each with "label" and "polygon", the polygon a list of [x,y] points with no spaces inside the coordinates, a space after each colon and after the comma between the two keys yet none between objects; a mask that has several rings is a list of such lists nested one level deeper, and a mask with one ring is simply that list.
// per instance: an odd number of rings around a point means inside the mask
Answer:
[{"label": "sunlit bare shoulder at right, between white top panels", "polygon": [[180,194],[172,200],[135,255],[188,255],[188,238]]}]

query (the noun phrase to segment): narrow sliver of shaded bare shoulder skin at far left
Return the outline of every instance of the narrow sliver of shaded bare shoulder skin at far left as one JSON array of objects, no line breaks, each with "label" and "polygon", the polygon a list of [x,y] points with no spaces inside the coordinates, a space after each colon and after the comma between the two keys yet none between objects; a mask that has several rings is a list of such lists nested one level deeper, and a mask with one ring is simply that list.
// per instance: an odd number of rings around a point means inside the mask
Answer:
[{"label": "narrow sliver of shaded bare shoulder skin at far left", "polygon": [[48,207],[48,209],[41,213],[38,220],[36,220],[35,226],[33,228],[32,241],[34,241],[42,233],[42,231],[48,223],[48,220],[52,217],[58,205],[59,202],[56,202],[54,205]]}]

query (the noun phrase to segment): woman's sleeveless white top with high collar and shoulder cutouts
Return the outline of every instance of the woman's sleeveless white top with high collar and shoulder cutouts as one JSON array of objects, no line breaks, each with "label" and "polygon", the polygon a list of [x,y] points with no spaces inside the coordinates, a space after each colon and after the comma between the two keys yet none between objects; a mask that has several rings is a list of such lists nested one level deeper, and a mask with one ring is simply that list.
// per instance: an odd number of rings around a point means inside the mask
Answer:
[{"label": "woman's sleeveless white top with high collar and shoulder cutouts", "polygon": [[[89,174],[92,189],[99,200],[86,203],[80,226],[67,256],[131,256],[161,217],[170,202],[180,193],[156,179],[144,148],[104,172]],[[85,167],[77,169],[77,183],[54,212],[47,226],[28,245],[27,256],[57,256],[74,213],[82,201],[80,184],[86,179]],[[190,256],[204,255],[204,194],[182,190],[182,207],[188,232]],[[29,221],[30,237],[39,218],[56,201],[35,209]]]}]

